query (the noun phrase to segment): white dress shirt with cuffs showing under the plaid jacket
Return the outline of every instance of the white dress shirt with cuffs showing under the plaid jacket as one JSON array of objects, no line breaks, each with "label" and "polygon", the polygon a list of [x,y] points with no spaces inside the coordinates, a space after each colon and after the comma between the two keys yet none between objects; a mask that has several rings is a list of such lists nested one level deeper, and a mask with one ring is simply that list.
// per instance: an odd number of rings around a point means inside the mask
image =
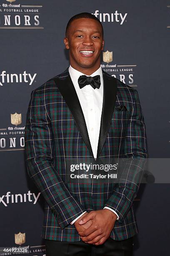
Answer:
[{"label": "white dress shirt with cuffs showing under the plaid jacket", "polygon": [[[92,147],[92,153],[94,158],[97,158],[97,146],[99,140],[99,133],[100,133],[100,122],[101,122],[101,115],[102,115],[102,102],[103,102],[103,76],[102,76],[102,68],[100,67],[94,73],[90,75],[90,77],[94,77],[96,75],[100,75],[100,88],[93,89],[90,84],[87,84],[85,87],[80,89],[78,84],[78,78],[81,75],[85,75],[80,71],[74,69],[73,67],[69,67],[68,69],[70,77],[72,79],[72,83],[75,87],[78,99],[80,101],[80,105],[82,108],[83,115],[85,117],[85,123],[87,126],[87,132],[90,139],[90,144]],[[89,77],[89,76],[87,76]],[[117,213],[109,207],[104,207],[104,209],[109,209],[114,212],[116,215]],[[80,218],[85,212],[79,215],[75,220],[73,220],[70,224],[72,225],[75,221]],[[117,220],[119,216],[117,215]]]}]

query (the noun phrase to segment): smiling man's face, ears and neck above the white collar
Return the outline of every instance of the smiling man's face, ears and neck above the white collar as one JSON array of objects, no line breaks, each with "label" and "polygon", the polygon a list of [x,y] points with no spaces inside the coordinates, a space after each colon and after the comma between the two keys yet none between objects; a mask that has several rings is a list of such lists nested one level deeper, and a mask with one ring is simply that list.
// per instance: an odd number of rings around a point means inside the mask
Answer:
[{"label": "smiling man's face, ears and neck above the white collar", "polygon": [[97,70],[100,67],[100,52],[103,49],[102,28],[97,20],[80,18],[73,20],[64,39],[69,49],[70,64],[73,68]]}]

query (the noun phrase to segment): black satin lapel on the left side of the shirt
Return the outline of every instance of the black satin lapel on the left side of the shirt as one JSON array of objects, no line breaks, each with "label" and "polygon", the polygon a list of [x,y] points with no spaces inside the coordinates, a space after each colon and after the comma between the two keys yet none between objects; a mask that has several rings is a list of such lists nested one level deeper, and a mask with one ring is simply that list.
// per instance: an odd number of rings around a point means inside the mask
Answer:
[{"label": "black satin lapel on the left side of the shirt", "polygon": [[65,99],[65,102],[68,108],[70,109],[70,112],[72,113],[73,119],[75,120],[75,123],[77,125],[78,130],[80,131],[83,141],[85,142],[87,148],[93,156],[90,139],[87,132],[87,126],[85,123],[85,118],[69,72],[68,76],[65,79],[61,80],[55,77],[54,80],[56,86],[62,94],[62,97]]}]

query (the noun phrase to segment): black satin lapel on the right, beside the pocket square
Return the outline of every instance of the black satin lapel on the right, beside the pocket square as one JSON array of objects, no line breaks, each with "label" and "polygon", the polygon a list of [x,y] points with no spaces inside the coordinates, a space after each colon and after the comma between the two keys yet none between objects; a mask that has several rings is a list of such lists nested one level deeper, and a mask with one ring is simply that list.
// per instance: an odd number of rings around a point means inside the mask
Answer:
[{"label": "black satin lapel on the right, beside the pocket square", "polygon": [[97,147],[97,157],[102,151],[105,143],[107,133],[109,131],[110,123],[112,120],[113,111],[115,108],[115,100],[117,94],[117,82],[114,77],[110,77],[103,70],[103,105],[102,116],[100,123],[100,134]]}]

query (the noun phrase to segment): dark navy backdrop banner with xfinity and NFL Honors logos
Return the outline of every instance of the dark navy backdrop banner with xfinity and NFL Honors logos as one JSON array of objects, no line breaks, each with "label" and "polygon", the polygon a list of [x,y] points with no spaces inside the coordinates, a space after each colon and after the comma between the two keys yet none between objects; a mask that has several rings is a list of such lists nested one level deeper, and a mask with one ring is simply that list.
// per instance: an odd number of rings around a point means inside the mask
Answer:
[{"label": "dark navy backdrop banner with xfinity and NFL Honors logos", "polygon": [[[0,0],[0,256],[45,255],[44,200],[28,177],[24,128],[30,93],[69,66],[68,20],[100,19],[102,69],[138,90],[148,153],[170,158],[170,0]],[[161,170],[160,170],[161,171]],[[170,184],[141,184],[134,255],[168,256]]]}]

